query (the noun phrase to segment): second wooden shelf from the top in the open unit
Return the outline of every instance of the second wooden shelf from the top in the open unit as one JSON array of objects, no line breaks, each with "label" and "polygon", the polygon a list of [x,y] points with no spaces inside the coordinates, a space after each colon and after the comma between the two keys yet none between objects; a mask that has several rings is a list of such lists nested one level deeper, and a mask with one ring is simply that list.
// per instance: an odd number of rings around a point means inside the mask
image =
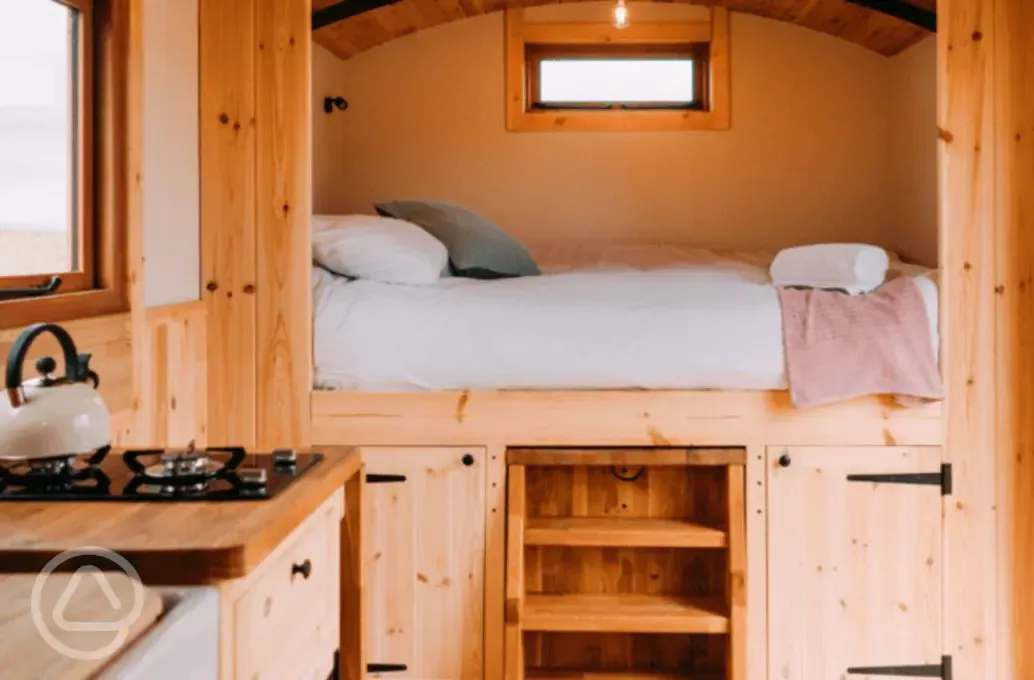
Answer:
[{"label": "second wooden shelf from the top in the open unit", "polygon": [[719,601],[673,595],[527,595],[520,617],[523,630],[551,632],[729,631]]}]

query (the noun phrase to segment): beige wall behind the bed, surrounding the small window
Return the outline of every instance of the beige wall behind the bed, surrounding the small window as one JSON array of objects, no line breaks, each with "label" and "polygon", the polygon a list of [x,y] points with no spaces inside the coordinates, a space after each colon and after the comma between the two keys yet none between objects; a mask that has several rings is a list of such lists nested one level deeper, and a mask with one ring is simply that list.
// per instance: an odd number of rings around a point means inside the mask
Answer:
[{"label": "beige wall behind the bed, surrounding the small window", "polygon": [[[535,18],[611,8],[555,5]],[[640,20],[701,11],[632,8]],[[314,209],[434,197],[529,241],[892,245],[889,60],[748,14],[732,14],[731,32],[732,130],[721,132],[507,132],[499,13],[347,61],[316,49],[314,96],[340,94],[351,109],[316,107]]]}]

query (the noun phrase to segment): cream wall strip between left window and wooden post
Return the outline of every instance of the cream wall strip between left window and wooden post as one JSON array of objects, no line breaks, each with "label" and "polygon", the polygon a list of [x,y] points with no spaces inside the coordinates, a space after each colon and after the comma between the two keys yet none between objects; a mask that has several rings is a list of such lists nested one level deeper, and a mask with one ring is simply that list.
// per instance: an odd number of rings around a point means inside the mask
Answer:
[{"label": "cream wall strip between left window and wooden post", "polygon": [[200,298],[197,0],[144,2],[144,302]]}]

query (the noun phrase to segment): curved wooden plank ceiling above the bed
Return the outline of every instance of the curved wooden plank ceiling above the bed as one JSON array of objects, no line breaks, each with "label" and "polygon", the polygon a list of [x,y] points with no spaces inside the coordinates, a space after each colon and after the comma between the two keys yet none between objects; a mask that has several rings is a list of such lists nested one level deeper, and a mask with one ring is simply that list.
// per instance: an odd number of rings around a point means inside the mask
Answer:
[{"label": "curved wooden plank ceiling above the bed", "polygon": [[[312,9],[340,0],[313,0]],[[400,0],[317,30],[315,41],[342,59],[416,31],[458,19],[505,9],[508,5],[542,5],[582,0]],[[658,0],[712,4],[702,0]],[[933,6],[934,0],[913,0]],[[733,11],[790,22],[835,35],[864,48],[892,56],[929,35],[922,28],[861,7],[846,0],[717,0]]]}]

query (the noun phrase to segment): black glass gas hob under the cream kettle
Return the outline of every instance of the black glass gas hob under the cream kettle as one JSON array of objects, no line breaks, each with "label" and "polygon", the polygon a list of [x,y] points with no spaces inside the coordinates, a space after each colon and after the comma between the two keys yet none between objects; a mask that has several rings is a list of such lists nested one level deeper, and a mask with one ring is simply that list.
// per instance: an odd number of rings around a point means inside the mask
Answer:
[{"label": "black glass gas hob under the cream kettle", "polygon": [[280,450],[145,450],[0,460],[0,501],[265,500],[323,460]]}]

